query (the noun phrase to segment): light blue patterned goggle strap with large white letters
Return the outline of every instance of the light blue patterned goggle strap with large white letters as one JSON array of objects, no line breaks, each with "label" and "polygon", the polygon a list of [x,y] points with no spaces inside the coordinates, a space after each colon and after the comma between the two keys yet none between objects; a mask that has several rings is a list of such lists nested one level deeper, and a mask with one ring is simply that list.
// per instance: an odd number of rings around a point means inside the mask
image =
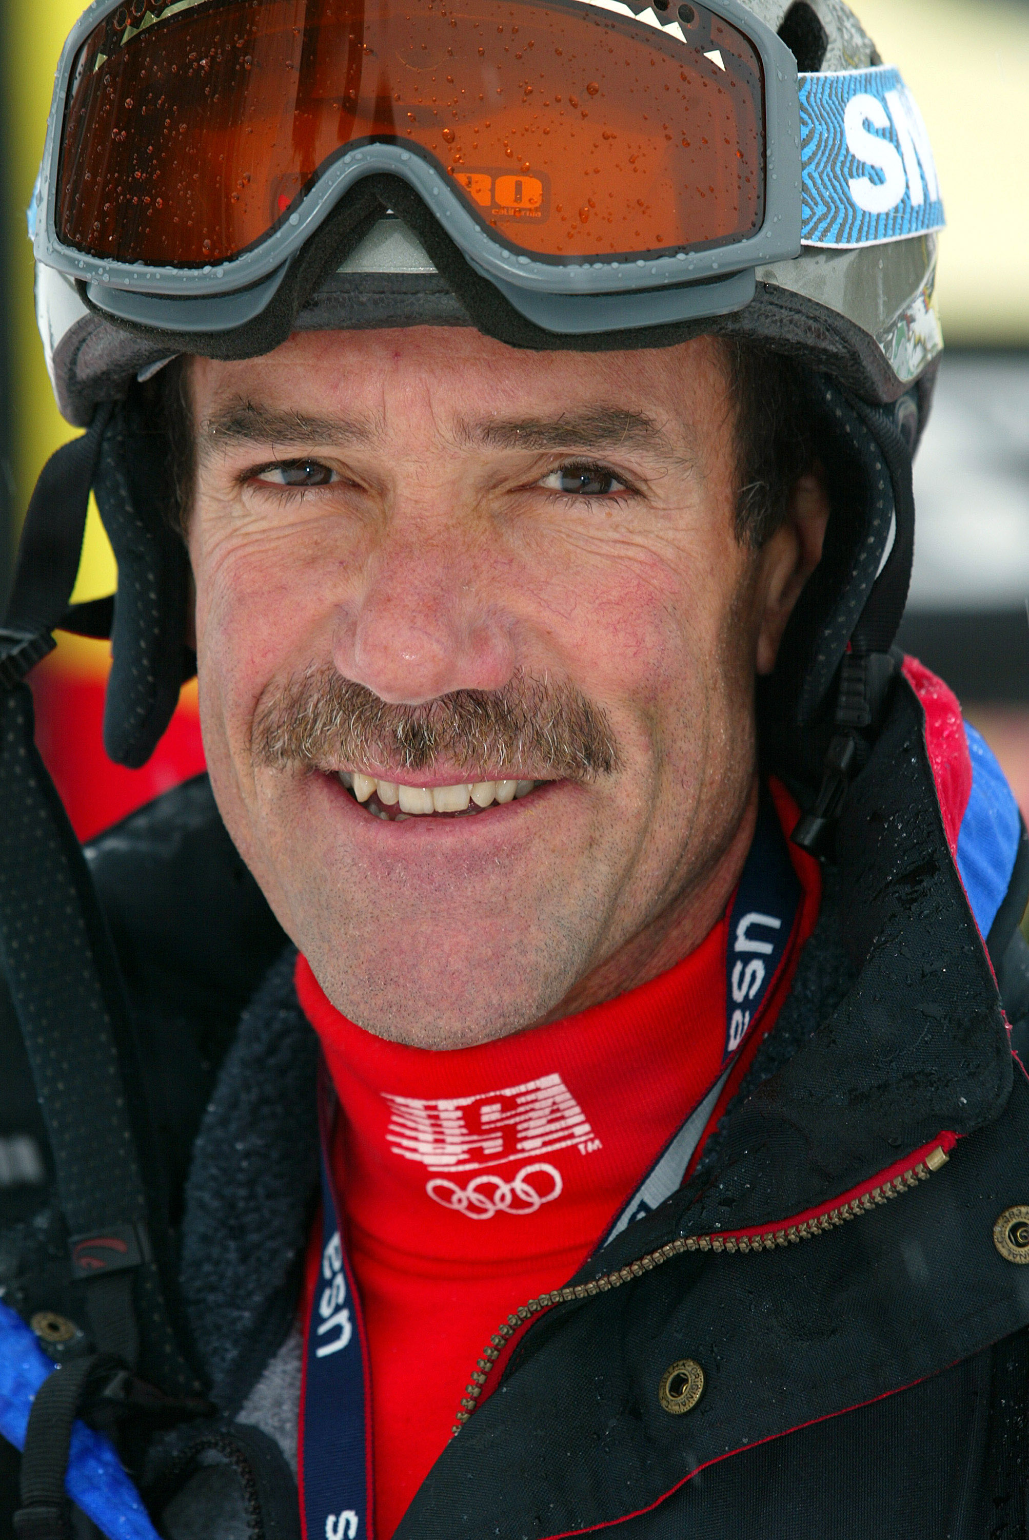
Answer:
[{"label": "light blue patterned goggle strap with large white letters", "polygon": [[801,242],[875,246],[946,223],[921,112],[892,65],[800,77]]}]

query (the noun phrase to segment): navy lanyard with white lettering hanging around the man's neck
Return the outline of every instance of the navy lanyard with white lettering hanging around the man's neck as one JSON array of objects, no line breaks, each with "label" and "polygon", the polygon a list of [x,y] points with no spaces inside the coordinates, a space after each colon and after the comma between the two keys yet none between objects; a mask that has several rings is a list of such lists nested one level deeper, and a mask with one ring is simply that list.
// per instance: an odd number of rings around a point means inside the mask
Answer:
[{"label": "navy lanyard with white lettering hanging around the man's neck", "polygon": [[[698,1107],[658,1155],[601,1246],[678,1186],[743,1044],[752,1036],[789,953],[803,890],[771,796],[763,793],[754,841],[729,910],[726,1036],[721,1069]],[[300,1508],[305,1540],[374,1540],[368,1343],[343,1246],[343,1209],[331,1161],[334,1093],[323,1073],[321,1258],[305,1338],[300,1421]]]}]

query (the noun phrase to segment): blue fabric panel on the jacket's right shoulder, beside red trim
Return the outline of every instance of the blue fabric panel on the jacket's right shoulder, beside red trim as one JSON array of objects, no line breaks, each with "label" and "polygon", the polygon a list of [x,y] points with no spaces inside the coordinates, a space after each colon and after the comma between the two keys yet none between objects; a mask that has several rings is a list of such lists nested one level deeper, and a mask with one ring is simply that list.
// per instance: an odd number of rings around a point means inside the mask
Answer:
[{"label": "blue fabric panel on the jacket's right shoulder, beside red trim", "polygon": [[989,935],[1015,870],[1018,804],[981,733],[964,724],[972,756],[972,795],[958,832],[958,872],[975,924]]}]

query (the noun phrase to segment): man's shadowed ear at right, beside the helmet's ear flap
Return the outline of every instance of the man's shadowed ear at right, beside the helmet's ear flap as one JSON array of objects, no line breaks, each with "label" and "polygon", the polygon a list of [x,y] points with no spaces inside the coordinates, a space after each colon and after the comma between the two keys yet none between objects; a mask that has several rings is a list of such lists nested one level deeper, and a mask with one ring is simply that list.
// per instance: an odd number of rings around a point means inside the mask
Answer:
[{"label": "man's shadowed ear at right, beside the helmet's ear flap", "polygon": [[800,476],[789,493],[786,517],[758,557],[760,625],[755,667],[768,675],[775,667],[778,645],[794,605],[821,561],[829,522],[829,494],[820,460]]}]

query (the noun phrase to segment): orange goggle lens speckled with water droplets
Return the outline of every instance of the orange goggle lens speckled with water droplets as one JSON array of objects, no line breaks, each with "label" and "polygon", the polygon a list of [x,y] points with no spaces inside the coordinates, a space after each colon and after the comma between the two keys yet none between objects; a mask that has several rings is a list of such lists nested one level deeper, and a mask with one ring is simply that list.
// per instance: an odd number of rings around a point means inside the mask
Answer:
[{"label": "orange goggle lens speckled with water droplets", "polygon": [[684,42],[580,0],[132,0],[75,60],[57,237],[225,262],[385,142],[535,257],[743,240],[764,217],[761,62],[704,6],[668,5]]}]

